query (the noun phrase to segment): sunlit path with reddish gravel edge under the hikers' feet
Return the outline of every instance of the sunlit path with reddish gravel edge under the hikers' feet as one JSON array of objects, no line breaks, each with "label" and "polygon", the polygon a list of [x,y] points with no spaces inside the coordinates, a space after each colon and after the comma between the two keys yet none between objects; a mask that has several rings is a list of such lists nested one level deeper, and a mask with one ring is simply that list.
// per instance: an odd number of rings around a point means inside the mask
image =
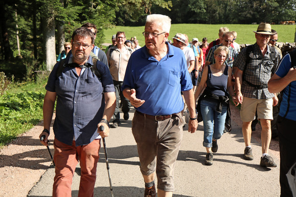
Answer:
[{"label": "sunlit path with reddish gravel edge under the hikers' feet", "polygon": [[[132,110],[134,111],[134,110]],[[131,132],[131,120],[111,130],[106,138],[110,174],[114,196],[142,196],[143,180],[139,171],[136,144]],[[260,125],[252,133],[254,160],[242,159],[244,149],[239,112],[232,106],[231,133],[218,141],[214,164],[204,165],[205,148],[202,147],[203,125],[194,134],[184,128],[182,146],[175,168],[174,196],[279,196],[278,141],[272,140],[270,155],[276,168],[259,166]],[[42,122],[0,150],[0,196],[51,196],[54,168],[47,149],[39,142]],[[50,136],[53,140],[53,134]],[[103,146],[103,145],[102,145]],[[50,145],[53,153],[53,145]],[[104,149],[100,150],[96,196],[110,196]],[[72,196],[78,195],[80,167],[73,177]],[[29,193],[29,194],[28,194]]]}]

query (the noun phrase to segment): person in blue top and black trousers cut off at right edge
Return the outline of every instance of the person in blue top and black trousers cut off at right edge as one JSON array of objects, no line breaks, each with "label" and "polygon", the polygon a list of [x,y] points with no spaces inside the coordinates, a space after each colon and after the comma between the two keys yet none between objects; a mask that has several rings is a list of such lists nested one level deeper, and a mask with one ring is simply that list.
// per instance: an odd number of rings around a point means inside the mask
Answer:
[{"label": "person in blue top and black trousers cut off at right edge", "polygon": [[[276,73],[268,81],[268,91],[283,91],[278,129],[280,139],[281,196],[295,196],[296,163],[296,49],[285,55]],[[291,177],[291,182],[288,178]]]}]

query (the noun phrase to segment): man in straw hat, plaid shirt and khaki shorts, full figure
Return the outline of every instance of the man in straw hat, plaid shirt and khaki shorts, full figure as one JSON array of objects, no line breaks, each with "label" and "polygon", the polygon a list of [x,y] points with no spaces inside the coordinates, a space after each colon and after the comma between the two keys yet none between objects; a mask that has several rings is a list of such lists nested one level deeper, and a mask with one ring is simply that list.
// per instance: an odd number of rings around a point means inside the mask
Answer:
[{"label": "man in straw hat, plaid shirt and khaki shorts, full figure", "polygon": [[270,120],[273,120],[273,106],[277,105],[278,98],[269,93],[267,82],[275,73],[280,61],[280,54],[274,47],[268,45],[272,27],[267,23],[260,23],[254,31],[256,43],[241,50],[234,60],[237,67],[235,73],[236,101],[241,103],[240,117],[242,120],[242,134],[245,143],[245,160],[253,160],[251,148],[251,123],[255,119],[257,110],[262,133],[262,157],[260,165],[263,167],[276,167],[273,158],[268,155],[268,148],[272,131]]}]

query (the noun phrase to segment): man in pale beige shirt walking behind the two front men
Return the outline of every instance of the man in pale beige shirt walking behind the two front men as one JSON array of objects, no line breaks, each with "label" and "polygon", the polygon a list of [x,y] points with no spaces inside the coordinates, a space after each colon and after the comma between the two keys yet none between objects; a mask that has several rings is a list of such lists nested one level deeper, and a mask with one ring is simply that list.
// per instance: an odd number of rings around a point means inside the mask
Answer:
[{"label": "man in pale beige shirt walking behind the two front men", "polygon": [[125,45],[126,34],[125,32],[116,33],[116,45],[108,49],[107,59],[110,68],[110,73],[113,79],[115,94],[116,94],[116,108],[113,115],[112,128],[120,125],[119,114],[119,100],[121,101],[121,110],[124,112],[124,120],[129,120],[129,111],[131,108],[130,101],[124,97],[121,91],[122,81],[124,81],[128,61],[132,54],[132,49]]}]

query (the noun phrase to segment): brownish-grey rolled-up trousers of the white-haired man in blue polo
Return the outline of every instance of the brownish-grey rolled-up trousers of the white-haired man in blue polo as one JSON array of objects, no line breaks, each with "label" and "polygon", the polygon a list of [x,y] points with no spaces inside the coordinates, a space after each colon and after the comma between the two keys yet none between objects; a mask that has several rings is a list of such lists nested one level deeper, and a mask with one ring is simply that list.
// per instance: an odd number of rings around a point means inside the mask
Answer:
[{"label": "brownish-grey rolled-up trousers of the white-haired man in blue polo", "polygon": [[163,121],[135,112],[132,132],[137,143],[142,175],[156,171],[158,189],[174,191],[173,175],[183,137],[181,112]]}]

